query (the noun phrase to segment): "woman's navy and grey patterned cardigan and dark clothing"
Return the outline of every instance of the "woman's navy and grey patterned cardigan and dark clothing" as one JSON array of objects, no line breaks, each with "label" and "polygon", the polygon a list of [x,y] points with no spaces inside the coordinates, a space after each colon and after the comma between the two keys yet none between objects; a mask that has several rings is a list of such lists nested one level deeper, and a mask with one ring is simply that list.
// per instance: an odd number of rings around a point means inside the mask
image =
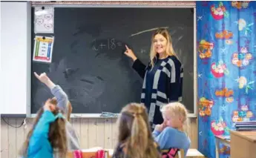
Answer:
[{"label": "woman's navy and grey patterned cardigan and dark clothing", "polygon": [[154,128],[163,122],[160,107],[182,99],[183,65],[176,56],[168,56],[155,60],[153,68],[145,66],[140,59],[132,67],[144,79],[141,102],[148,108],[148,119]]}]

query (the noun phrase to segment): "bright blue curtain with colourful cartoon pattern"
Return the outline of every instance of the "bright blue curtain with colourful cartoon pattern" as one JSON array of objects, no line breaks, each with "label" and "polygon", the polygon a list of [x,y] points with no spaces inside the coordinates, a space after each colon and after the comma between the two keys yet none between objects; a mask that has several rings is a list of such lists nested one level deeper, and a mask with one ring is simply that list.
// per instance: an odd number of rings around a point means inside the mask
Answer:
[{"label": "bright blue curtain with colourful cartoon pattern", "polygon": [[[197,1],[198,148],[256,115],[256,1]],[[220,157],[230,157],[220,145]]]}]

